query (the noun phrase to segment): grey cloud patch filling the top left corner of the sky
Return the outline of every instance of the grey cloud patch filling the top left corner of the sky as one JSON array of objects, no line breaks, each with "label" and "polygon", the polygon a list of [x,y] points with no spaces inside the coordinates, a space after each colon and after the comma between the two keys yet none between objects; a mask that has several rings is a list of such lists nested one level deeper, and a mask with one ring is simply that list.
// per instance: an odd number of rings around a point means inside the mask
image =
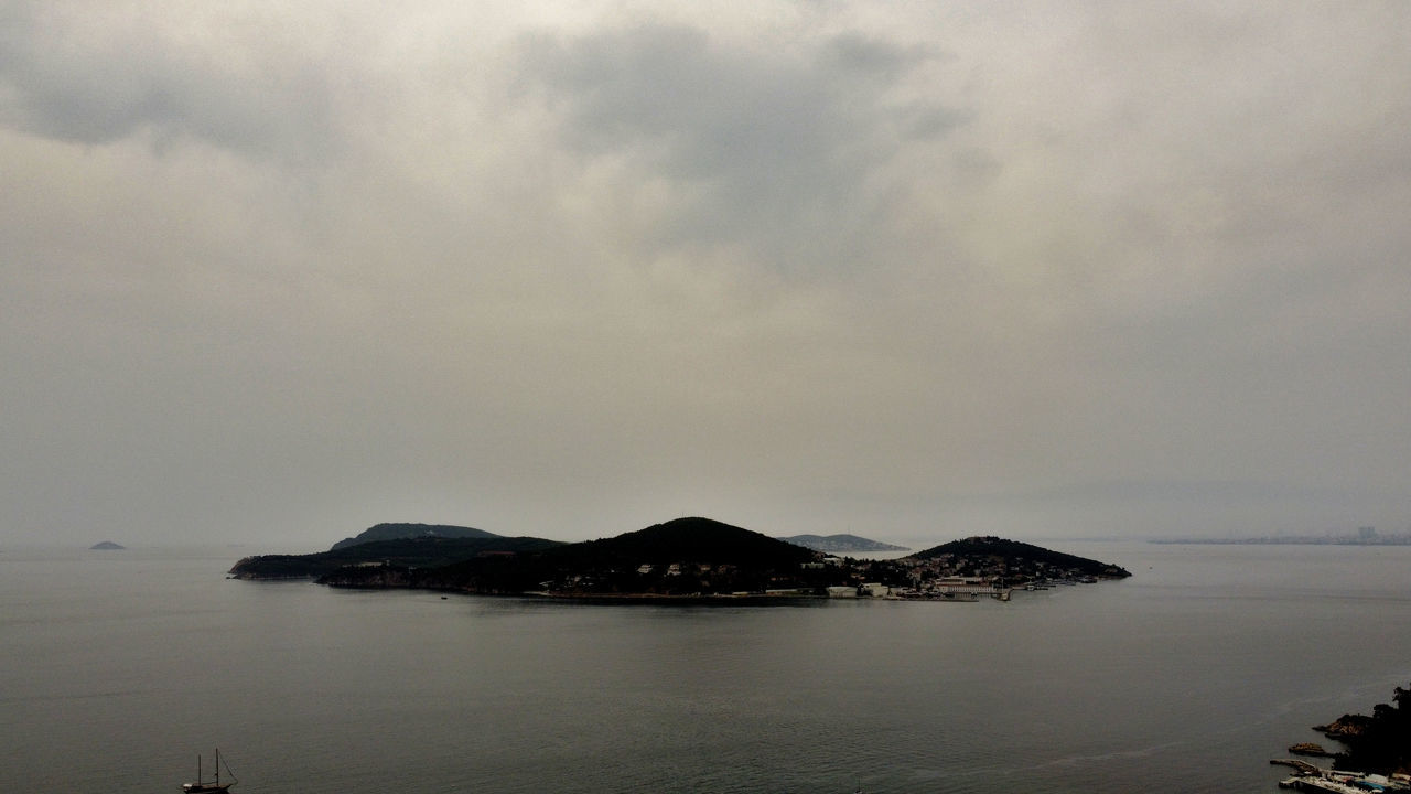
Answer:
[{"label": "grey cloud patch filling the top left corner of the sky", "polygon": [[295,160],[337,144],[327,52],[238,8],[169,23],[133,11],[8,4],[0,123],[87,146],[148,134]]}]

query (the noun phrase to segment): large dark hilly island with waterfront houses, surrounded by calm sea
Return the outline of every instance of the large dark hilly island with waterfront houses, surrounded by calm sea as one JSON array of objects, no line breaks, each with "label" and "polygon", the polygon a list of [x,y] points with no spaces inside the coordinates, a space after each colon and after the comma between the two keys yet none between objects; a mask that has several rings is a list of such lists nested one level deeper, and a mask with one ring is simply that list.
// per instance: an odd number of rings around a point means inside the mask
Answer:
[{"label": "large dark hilly island with waterfront houses, surrounded by calm sea", "polygon": [[[394,530],[391,527],[399,527]],[[895,598],[974,600],[1013,588],[1096,582],[1113,564],[996,537],[897,559],[835,557],[711,519],[676,519],[611,538],[559,543],[457,527],[380,524],[305,555],[247,557],[238,579],[310,578],[341,588],[418,588],[550,598]],[[375,530],[375,531],[374,531]],[[405,533],[405,534],[402,534]],[[402,534],[402,537],[389,537]],[[460,537],[453,537],[460,535]],[[384,540],[371,540],[384,538]],[[357,538],[350,538],[357,540]]]}]

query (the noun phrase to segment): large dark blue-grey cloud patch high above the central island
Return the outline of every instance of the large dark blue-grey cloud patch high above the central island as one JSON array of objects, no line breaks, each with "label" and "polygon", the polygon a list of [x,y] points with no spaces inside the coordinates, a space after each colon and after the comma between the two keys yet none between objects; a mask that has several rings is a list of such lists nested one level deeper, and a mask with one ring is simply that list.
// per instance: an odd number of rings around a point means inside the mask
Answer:
[{"label": "large dark blue-grey cloud patch high above the central island", "polygon": [[858,34],[780,51],[642,25],[531,37],[521,79],[580,157],[625,161],[624,178],[687,196],[660,244],[837,268],[888,209],[879,170],[964,123],[937,97],[895,92],[935,57]]}]

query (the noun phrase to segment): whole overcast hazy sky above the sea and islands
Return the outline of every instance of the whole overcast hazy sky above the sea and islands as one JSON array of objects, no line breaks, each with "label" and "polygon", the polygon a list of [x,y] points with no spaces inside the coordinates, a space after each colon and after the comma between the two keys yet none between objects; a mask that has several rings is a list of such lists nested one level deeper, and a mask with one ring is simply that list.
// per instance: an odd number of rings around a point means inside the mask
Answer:
[{"label": "whole overcast hazy sky above the sea and islands", "polygon": [[0,547],[1411,531],[1408,40],[0,0]]}]

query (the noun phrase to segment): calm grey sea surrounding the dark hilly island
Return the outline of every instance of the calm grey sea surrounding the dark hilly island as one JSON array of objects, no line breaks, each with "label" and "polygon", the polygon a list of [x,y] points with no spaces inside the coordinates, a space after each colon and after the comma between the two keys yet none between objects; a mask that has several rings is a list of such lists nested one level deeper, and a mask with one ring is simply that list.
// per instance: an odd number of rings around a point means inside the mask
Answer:
[{"label": "calm grey sea surrounding the dark hilly island", "polygon": [[[1411,682],[1411,547],[1053,541],[1002,603],[584,605],[0,548],[0,793],[1273,793]],[[222,780],[229,781],[226,769]]]}]

